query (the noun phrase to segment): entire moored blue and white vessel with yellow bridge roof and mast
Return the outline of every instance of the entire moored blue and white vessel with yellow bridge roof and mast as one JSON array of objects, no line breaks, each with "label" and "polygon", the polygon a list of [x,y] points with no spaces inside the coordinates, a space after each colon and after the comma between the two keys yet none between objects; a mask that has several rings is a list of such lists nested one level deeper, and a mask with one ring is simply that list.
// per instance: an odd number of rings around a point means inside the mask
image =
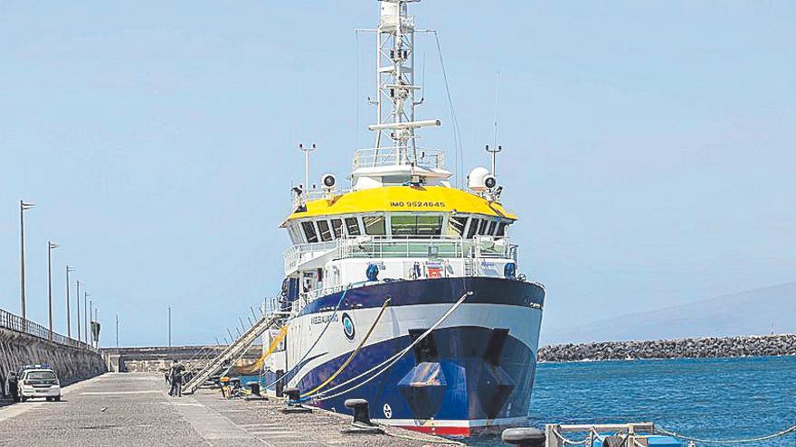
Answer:
[{"label": "entire moored blue and white vessel with yellow bridge roof and mast", "polygon": [[379,2],[375,142],[355,151],[350,187],[327,174],[292,189],[282,324],[264,337],[261,384],[337,412],[363,398],[378,423],[468,436],[526,422],[545,289],[519,273],[517,217],[494,172],[457,188],[444,153],[418,144],[441,122],[415,116],[410,3]]}]

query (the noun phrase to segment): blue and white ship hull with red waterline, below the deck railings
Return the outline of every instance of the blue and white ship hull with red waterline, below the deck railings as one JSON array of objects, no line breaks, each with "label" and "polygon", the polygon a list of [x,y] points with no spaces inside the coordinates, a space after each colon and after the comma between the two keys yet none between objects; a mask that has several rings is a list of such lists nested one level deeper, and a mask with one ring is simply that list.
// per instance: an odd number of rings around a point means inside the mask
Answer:
[{"label": "blue and white ship hull with red waterline, below the deck railings", "polygon": [[[410,346],[467,292],[472,294],[437,329],[384,373],[335,388]],[[287,386],[312,392],[308,403],[349,412],[346,399],[364,398],[379,423],[446,435],[526,421],[545,299],[541,286],[503,278],[437,278],[342,293],[319,298],[289,321],[285,370],[292,371],[285,379]]]}]

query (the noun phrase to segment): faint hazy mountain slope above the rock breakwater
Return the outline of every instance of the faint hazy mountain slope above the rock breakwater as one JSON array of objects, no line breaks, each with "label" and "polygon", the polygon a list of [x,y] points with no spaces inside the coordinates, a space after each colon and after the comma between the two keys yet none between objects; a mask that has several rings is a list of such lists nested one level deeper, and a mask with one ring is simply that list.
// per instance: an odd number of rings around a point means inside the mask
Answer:
[{"label": "faint hazy mountain slope above the rock breakwater", "polygon": [[796,333],[796,283],[545,331],[542,344]]}]

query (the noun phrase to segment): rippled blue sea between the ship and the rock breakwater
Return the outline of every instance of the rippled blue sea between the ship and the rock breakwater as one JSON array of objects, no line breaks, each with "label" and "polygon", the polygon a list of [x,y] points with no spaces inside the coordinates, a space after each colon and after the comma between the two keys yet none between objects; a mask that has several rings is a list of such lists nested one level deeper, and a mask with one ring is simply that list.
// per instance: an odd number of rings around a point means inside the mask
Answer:
[{"label": "rippled blue sea between the ship and the rock breakwater", "polygon": [[[650,421],[699,438],[760,436],[796,424],[796,357],[542,364],[531,405],[538,427]],[[744,445],[794,447],[796,438]]]}]

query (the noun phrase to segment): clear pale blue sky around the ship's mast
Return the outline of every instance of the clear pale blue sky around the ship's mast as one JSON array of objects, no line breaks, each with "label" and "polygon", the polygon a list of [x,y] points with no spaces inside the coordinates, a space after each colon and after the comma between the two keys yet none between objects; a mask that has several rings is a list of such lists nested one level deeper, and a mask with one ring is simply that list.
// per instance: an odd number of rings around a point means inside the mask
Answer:
[{"label": "clear pale blue sky around the ship's mast", "polygon": [[[373,144],[373,0],[25,2],[0,7],[0,308],[65,332],[64,265],[101,345],[212,343],[279,291],[303,181]],[[796,279],[796,4],[412,4],[439,31],[461,161],[520,216],[546,327]],[[422,144],[456,153],[419,36]],[[499,88],[496,88],[499,71]],[[497,95],[496,95],[497,93]],[[345,185],[344,185],[345,186]],[[72,286],[73,287],[73,286]],[[74,290],[72,288],[72,293]],[[74,324],[74,323],[73,323]],[[687,331],[687,328],[684,328]],[[232,330],[234,332],[234,330]]]}]

